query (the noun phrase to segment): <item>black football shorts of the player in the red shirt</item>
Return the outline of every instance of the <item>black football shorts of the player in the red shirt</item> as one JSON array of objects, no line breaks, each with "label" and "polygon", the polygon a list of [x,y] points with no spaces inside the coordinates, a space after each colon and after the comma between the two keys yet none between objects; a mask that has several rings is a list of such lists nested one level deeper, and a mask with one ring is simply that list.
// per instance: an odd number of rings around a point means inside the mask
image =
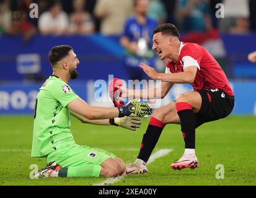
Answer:
[{"label": "black football shorts of the player in the red shirt", "polygon": [[198,90],[202,98],[200,111],[195,114],[196,127],[217,119],[227,117],[234,108],[234,96],[227,95],[223,90]]}]

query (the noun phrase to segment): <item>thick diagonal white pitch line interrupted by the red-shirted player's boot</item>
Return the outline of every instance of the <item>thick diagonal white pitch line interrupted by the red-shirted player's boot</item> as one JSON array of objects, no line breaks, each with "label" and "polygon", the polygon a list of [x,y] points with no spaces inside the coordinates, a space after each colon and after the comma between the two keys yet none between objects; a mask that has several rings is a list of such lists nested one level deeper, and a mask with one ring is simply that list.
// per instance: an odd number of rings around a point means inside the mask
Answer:
[{"label": "thick diagonal white pitch line interrupted by the red-shirted player's boot", "polygon": [[[172,149],[157,150],[156,153],[153,153],[151,155],[151,157],[148,160],[147,165],[149,165],[149,163],[154,162],[158,158],[161,158],[161,157],[164,157],[165,155],[168,155],[170,152],[172,152]],[[109,185],[109,184],[116,183],[116,182],[120,181],[121,179],[123,179],[124,177],[125,176],[117,176],[116,178],[108,178],[108,179],[105,179],[105,181],[102,181],[102,183],[92,184],[92,186],[106,186],[106,185]]]}]

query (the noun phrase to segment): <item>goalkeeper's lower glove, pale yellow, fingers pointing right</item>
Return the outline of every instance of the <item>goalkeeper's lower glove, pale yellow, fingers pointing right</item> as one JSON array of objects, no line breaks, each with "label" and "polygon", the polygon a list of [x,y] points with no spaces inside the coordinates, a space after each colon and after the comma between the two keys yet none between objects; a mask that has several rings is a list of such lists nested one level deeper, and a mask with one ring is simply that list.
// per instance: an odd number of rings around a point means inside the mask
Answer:
[{"label": "goalkeeper's lower glove, pale yellow, fingers pointing right", "polygon": [[136,131],[141,126],[141,118],[137,116],[125,116],[123,118],[114,118],[114,123],[125,129]]}]

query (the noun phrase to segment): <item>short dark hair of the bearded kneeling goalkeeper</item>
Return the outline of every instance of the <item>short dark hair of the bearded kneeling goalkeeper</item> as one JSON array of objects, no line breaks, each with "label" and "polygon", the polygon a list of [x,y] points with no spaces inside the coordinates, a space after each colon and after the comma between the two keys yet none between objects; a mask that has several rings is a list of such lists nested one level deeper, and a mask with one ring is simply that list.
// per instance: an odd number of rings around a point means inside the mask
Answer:
[{"label": "short dark hair of the bearded kneeling goalkeeper", "polygon": [[51,66],[54,66],[56,62],[59,62],[65,56],[68,55],[69,51],[74,49],[69,45],[59,45],[51,48],[48,58],[51,62]]}]

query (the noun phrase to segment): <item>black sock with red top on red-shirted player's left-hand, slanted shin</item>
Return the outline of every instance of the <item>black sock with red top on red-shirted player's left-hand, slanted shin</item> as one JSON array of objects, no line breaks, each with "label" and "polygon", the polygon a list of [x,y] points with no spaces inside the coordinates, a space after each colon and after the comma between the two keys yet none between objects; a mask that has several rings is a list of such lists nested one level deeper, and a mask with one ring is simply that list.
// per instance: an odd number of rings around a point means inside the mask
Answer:
[{"label": "black sock with red top on red-shirted player's left-hand, slanted shin", "polygon": [[151,117],[146,133],[143,135],[141,142],[141,149],[139,150],[139,155],[137,158],[147,162],[156,143],[161,136],[162,129],[164,129],[165,124],[163,124],[158,119]]}]

